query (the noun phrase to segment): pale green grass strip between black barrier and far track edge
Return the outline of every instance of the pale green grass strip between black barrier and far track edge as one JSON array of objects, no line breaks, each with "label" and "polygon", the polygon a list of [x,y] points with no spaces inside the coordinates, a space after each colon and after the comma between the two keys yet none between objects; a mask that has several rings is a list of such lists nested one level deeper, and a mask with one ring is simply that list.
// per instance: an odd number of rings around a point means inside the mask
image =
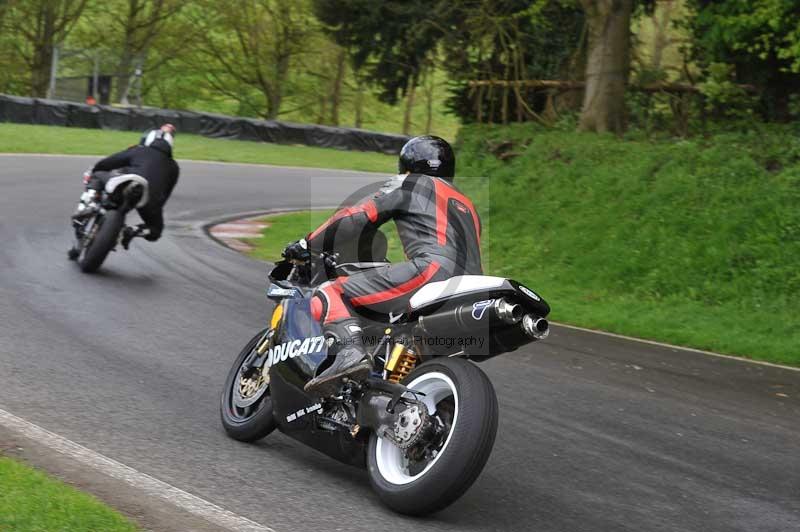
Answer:
[{"label": "pale green grass strip between black barrier and far track edge", "polygon": [[[139,141],[140,133],[0,123],[0,153],[59,153],[104,156]],[[343,151],[310,146],[211,139],[178,134],[179,159],[310,166],[382,172],[397,165],[397,157],[381,153]]]}]

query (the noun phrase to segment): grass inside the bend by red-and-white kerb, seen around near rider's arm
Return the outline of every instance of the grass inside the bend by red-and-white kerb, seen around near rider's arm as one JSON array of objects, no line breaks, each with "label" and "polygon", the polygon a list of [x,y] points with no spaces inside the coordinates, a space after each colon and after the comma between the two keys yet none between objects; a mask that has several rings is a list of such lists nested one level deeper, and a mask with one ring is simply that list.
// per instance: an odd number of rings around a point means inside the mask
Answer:
[{"label": "grass inside the bend by red-and-white kerb, seen around near rider's arm", "polygon": [[[281,251],[289,242],[306,236],[308,233],[322,225],[334,211],[298,211],[285,214],[271,214],[261,219],[268,225],[261,231],[259,238],[249,238],[246,241],[253,246],[249,255],[253,258],[275,262],[280,260]],[[386,235],[389,247],[389,260],[402,262],[405,260],[397,229],[392,222],[381,227]]]}]

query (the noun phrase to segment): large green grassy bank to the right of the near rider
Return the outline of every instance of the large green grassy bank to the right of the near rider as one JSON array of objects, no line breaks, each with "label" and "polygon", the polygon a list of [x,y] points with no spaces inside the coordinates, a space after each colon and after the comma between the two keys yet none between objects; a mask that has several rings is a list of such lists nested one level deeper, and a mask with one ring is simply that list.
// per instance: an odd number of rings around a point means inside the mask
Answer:
[{"label": "large green grassy bank to the right of the near rider", "polygon": [[[557,321],[800,365],[800,138],[757,127],[620,140],[462,129],[487,272]],[[511,141],[519,155],[491,153]],[[509,149],[509,148],[506,148]]]}]

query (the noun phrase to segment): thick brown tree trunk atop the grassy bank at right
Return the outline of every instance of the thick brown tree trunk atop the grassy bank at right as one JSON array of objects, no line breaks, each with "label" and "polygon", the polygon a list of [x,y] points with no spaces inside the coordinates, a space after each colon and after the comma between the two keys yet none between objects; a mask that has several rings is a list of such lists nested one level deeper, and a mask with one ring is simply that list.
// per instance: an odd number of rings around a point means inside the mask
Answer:
[{"label": "thick brown tree trunk atop the grassy bank at right", "polygon": [[630,70],[633,0],[581,0],[589,26],[586,89],[578,129],[621,133]]}]

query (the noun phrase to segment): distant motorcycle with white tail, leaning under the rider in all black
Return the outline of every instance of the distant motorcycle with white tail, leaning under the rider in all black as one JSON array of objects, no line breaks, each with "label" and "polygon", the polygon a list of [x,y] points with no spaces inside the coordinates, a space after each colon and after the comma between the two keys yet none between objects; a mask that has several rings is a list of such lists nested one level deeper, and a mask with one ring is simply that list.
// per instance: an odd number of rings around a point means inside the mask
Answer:
[{"label": "distant motorcycle with white tail, leaning under the rider in all black", "polygon": [[[92,176],[84,174],[88,182]],[[85,273],[97,271],[118,243],[127,249],[141,229],[125,226],[125,216],[147,203],[147,180],[137,174],[106,173],[99,177],[101,191],[88,189],[72,216],[75,243],[68,252]]]}]

